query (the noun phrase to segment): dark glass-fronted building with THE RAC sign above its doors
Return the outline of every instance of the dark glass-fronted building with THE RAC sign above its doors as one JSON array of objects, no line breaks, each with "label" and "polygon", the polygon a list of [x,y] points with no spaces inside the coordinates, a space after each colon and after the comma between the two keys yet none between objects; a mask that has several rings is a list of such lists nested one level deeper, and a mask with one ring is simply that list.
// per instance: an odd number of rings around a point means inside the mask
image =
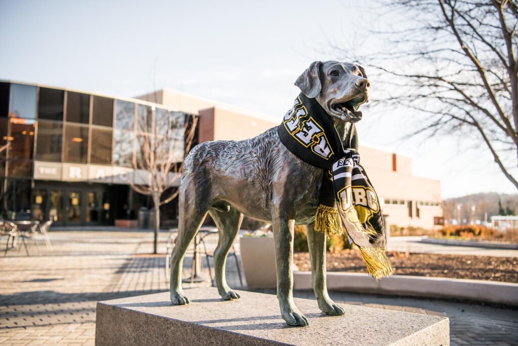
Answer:
[{"label": "dark glass-fronted building with THE RAC sign above its doors", "polygon": [[[192,116],[143,100],[0,81],[0,147],[9,143],[0,153],[2,218],[64,226],[135,219],[138,208],[151,207],[128,186],[147,128],[139,124],[167,117],[183,128]],[[168,140],[181,161],[183,136]],[[176,208],[167,210],[176,218]]]}]

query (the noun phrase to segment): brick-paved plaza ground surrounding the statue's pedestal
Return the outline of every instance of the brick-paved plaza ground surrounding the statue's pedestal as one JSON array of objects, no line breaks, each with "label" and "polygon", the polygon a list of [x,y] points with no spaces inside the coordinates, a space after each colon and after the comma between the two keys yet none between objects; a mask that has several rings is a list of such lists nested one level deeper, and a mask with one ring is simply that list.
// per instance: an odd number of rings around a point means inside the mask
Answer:
[{"label": "brick-paved plaza ground surrounding the statue's pedestal", "polygon": [[[40,241],[39,255],[31,246],[30,257],[22,249],[10,250],[0,259],[2,344],[92,345],[98,300],[168,290],[164,255],[149,254],[151,232],[60,231],[50,236],[53,248],[46,249]],[[161,234],[161,253],[165,253],[166,236]],[[5,238],[0,244],[5,246]],[[189,261],[184,267],[187,276]],[[232,287],[243,288],[233,261],[228,261],[227,280]],[[307,291],[295,295],[313,298]],[[330,295],[348,304],[447,315],[454,345],[518,344],[515,308],[439,299]]]}]

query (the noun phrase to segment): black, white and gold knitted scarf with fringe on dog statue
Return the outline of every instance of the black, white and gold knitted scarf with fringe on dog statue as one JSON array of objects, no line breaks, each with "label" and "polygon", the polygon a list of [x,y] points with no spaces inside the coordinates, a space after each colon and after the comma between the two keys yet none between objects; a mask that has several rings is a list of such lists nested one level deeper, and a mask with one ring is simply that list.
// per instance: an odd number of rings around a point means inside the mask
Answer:
[{"label": "black, white and gold knitted scarf with fringe on dog statue", "polygon": [[369,274],[376,279],[392,275],[379,199],[359,163],[354,124],[344,148],[332,118],[314,98],[300,93],[277,132],[292,154],[324,170],[315,230],[329,236],[343,234],[345,228]]}]

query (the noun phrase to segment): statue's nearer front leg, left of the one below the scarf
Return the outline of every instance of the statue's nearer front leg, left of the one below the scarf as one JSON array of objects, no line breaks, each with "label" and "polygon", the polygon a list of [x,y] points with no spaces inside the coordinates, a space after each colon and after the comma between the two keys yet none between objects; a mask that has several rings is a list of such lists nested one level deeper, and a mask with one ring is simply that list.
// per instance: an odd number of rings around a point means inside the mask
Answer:
[{"label": "statue's nearer front leg, left of the one below the scarf", "polygon": [[293,301],[293,227],[294,220],[275,216],[274,229],[275,257],[277,261],[277,298],[284,321],[291,326],[307,326],[308,319]]}]

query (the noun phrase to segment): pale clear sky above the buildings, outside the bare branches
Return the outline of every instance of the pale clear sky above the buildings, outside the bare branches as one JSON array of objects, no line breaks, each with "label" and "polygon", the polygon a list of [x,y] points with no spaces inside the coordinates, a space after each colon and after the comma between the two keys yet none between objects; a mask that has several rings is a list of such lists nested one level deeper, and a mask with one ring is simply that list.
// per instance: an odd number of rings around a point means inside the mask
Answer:
[{"label": "pale clear sky above the buildings, outside the bare branches", "polygon": [[[397,20],[380,21],[365,3],[0,0],[0,79],[125,97],[170,88],[280,121],[298,75],[337,59],[329,41],[349,46],[364,27]],[[411,114],[363,112],[361,143],[411,156],[415,175],[441,180],[443,197],[516,192],[482,145],[401,141]]]}]

